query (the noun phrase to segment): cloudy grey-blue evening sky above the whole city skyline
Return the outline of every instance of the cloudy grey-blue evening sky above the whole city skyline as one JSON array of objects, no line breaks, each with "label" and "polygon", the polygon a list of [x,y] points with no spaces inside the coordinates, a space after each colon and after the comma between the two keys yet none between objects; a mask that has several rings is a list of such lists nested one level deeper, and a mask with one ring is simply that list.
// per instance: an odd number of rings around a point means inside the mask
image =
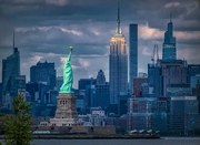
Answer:
[{"label": "cloudy grey-blue evening sky above the whole city skyline", "polygon": [[[129,24],[139,24],[139,72],[147,72],[153,45],[161,46],[172,13],[178,58],[200,64],[199,0],[121,0],[122,32],[129,46]],[[61,62],[74,46],[74,86],[80,77],[109,80],[109,40],[117,28],[117,0],[0,0],[0,61],[12,53],[12,32],[21,55],[21,74],[30,76],[38,61]],[[0,81],[1,81],[0,63]]]}]

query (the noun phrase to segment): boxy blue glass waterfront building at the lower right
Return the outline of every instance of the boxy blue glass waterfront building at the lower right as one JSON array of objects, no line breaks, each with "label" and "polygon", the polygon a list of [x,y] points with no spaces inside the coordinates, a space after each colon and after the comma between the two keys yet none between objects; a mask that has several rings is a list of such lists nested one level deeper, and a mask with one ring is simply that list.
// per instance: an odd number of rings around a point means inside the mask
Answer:
[{"label": "boxy blue glass waterfront building at the lower right", "polygon": [[169,130],[182,135],[199,125],[197,96],[171,96],[169,103]]}]

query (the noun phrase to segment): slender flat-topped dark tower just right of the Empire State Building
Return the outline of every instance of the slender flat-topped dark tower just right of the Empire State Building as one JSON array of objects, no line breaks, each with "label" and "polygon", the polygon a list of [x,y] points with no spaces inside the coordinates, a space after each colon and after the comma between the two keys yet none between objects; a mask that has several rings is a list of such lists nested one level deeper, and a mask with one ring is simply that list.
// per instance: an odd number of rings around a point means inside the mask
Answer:
[{"label": "slender flat-topped dark tower just right of the Empire State Building", "polygon": [[133,77],[138,74],[138,24],[129,25],[129,87],[133,93]]}]

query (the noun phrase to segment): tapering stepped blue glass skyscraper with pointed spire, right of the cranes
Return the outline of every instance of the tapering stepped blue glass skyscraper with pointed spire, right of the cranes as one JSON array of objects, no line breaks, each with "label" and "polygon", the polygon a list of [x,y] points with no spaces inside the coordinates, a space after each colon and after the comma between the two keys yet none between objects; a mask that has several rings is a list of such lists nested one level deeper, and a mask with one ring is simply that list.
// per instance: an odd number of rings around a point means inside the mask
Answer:
[{"label": "tapering stepped blue glass skyscraper with pointed spire, right of the cranes", "polygon": [[162,45],[162,59],[163,60],[176,60],[177,49],[176,49],[176,37],[173,37],[173,23],[168,23],[168,30],[164,33],[164,42]]}]

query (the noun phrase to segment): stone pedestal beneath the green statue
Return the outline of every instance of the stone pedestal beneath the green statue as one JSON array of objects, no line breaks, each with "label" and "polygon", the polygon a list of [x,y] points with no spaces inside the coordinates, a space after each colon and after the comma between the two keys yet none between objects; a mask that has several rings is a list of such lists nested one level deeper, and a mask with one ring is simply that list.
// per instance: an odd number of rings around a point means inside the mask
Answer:
[{"label": "stone pedestal beneath the green statue", "polygon": [[78,124],[76,108],[76,96],[68,93],[59,93],[57,99],[57,111],[53,118],[50,118],[51,126],[73,126]]}]

